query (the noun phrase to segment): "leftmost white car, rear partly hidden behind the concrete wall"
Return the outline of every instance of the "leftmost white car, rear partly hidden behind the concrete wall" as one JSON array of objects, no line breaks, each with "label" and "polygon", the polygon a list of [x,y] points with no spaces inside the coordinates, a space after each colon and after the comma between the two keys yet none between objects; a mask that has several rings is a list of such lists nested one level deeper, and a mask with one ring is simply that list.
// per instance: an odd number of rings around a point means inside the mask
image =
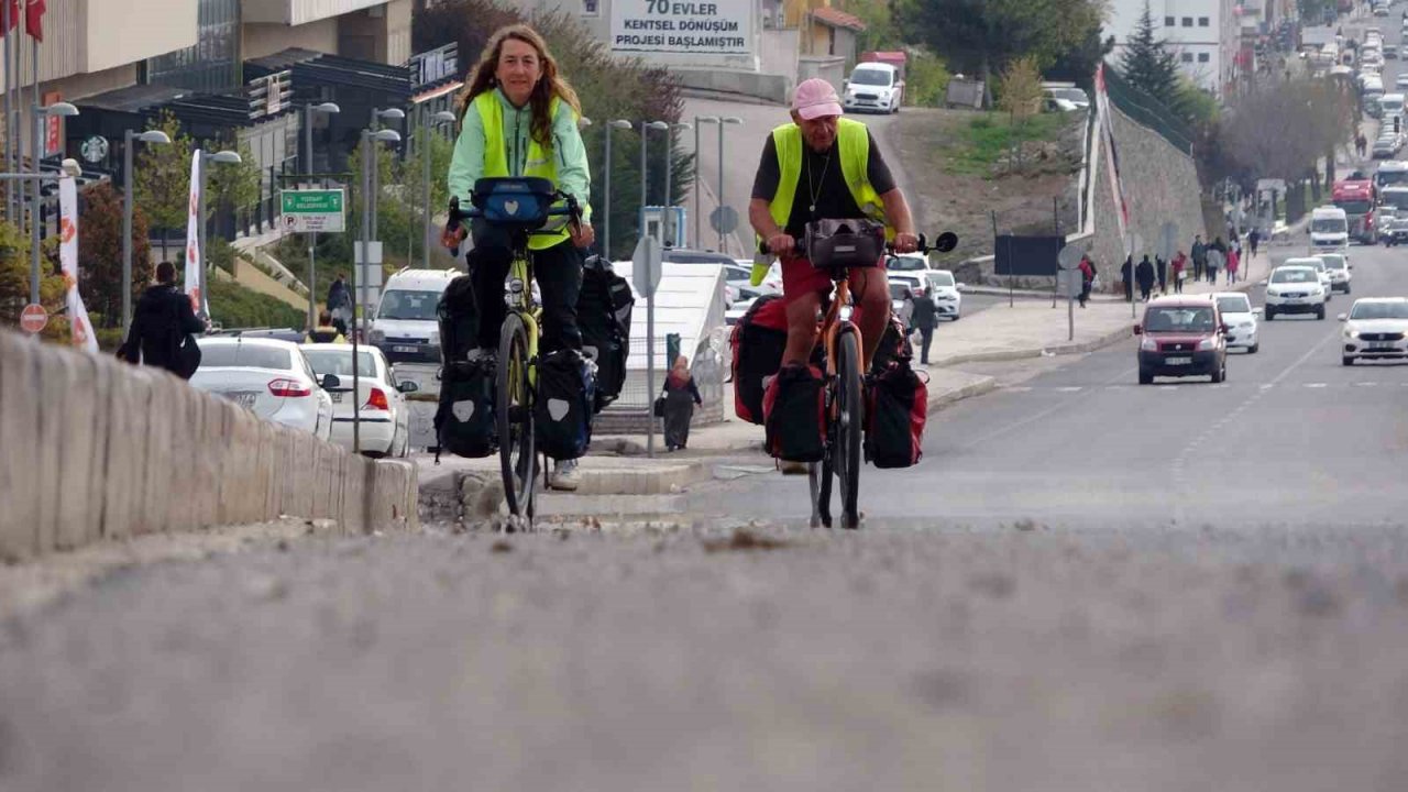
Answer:
[{"label": "leftmost white car, rear partly hidden behind the concrete wall", "polygon": [[253,412],[260,419],[328,440],[334,375],[318,378],[303,349],[275,338],[197,338],[200,368],[190,385]]}]

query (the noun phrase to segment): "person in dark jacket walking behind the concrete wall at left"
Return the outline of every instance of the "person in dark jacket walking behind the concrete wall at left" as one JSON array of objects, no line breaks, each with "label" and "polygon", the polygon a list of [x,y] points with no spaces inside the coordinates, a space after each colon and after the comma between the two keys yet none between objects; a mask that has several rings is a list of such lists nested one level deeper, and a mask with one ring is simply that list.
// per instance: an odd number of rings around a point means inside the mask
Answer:
[{"label": "person in dark jacket walking behind the concrete wall at left", "polygon": [[187,337],[204,331],[206,323],[196,318],[190,297],[176,287],[176,265],[163,261],[156,265],[156,283],[137,300],[132,327],[118,348],[118,357],[190,379],[200,365],[200,348],[194,340],[187,347]]}]

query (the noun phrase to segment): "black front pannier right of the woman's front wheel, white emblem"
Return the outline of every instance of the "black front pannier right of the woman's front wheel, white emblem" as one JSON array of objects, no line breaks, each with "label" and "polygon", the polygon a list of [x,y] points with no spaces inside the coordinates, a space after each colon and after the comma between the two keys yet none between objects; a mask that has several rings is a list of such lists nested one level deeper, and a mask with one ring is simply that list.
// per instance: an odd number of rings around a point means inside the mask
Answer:
[{"label": "black front pannier right of the woman's front wheel, white emblem", "polygon": [[538,450],[553,459],[576,459],[591,443],[596,386],[590,365],[576,349],[558,349],[538,361],[534,426]]}]

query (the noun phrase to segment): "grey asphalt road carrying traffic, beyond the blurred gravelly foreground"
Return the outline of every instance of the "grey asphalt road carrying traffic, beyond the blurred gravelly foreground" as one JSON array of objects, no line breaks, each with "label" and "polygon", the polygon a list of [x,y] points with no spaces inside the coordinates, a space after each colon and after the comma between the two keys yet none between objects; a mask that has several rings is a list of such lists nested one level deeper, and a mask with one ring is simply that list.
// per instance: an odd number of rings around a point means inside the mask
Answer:
[{"label": "grey asphalt road carrying traffic, beyond the blurred gravelly foreground", "polygon": [[[1277,256],[1287,255],[1277,248]],[[1408,252],[1356,247],[1354,292],[1325,321],[1262,323],[1262,349],[1233,352],[1228,382],[1136,383],[1135,341],[931,416],[925,459],[865,469],[873,526],[1076,530],[1131,526],[1316,528],[1401,524],[1408,503],[1408,366],[1340,365],[1353,297],[1408,295]],[[1262,289],[1252,292],[1260,304]],[[803,476],[700,492],[703,513],[805,516]]]}]

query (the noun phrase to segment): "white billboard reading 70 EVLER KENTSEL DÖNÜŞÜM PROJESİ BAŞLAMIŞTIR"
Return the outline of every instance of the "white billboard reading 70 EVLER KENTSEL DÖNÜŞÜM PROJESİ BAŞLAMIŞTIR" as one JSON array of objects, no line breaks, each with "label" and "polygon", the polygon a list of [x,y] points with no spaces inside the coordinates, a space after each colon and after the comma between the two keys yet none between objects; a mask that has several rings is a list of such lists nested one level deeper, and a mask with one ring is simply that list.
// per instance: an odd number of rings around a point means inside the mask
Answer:
[{"label": "white billboard reading 70 EVLER KENTSEL D\u00d6N\u00dc\u015e\u00dcM PROJES\u0130 BA\u015eLAMI\u015eTIR", "polygon": [[755,0],[612,0],[611,49],[752,55]]}]

